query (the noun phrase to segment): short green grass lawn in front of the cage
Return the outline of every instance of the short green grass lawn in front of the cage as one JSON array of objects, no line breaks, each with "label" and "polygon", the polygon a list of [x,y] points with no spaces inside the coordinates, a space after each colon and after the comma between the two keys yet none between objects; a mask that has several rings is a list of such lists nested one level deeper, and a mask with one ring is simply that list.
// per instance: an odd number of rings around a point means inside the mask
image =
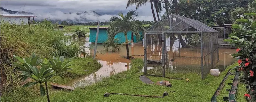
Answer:
[{"label": "short green grass lawn in front of the cage", "polygon": [[[236,64],[233,64],[227,67],[220,76],[208,75],[205,80],[191,77],[190,82],[186,82],[185,80],[169,80],[164,77],[148,76],[153,82],[167,80],[173,85],[173,87],[165,87],[155,84],[147,85],[139,80],[139,76],[143,74],[141,72],[137,73],[143,68],[142,59],[132,60],[131,65],[132,66],[129,71],[104,78],[101,82],[91,86],[75,89],[72,92],[52,92],[50,93],[50,99],[52,102],[163,102],[167,100],[168,102],[209,102],[227,71],[230,68],[237,66]],[[144,98],[112,94],[109,97],[103,97],[105,92],[162,96],[165,91],[169,93],[169,96],[166,96],[165,98]],[[171,91],[176,92],[171,93]],[[239,85],[237,100],[241,100],[240,102],[245,102],[242,99],[244,91],[244,87]],[[45,102],[47,101],[47,98],[46,96],[43,98],[29,98],[27,101]]]}]

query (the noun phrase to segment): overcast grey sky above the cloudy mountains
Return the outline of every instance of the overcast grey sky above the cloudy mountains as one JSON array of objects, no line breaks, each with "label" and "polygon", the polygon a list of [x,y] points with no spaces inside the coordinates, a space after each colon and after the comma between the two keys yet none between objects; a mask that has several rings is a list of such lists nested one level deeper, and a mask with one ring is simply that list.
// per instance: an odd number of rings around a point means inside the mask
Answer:
[{"label": "overcast grey sky above the cloudy mountains", "polygon": [[[96,11],[103,15],[102,17],[93,17],[86,15],[86,18],[91,20],[109,20],[110,17],[117,15],[118,12],[126,13],[129,10],[135,10],[135,6],[126,9],[127,1],[0,1],[1,7],[13,11],[26,11],[35,13],[36,16],[50,19],[61,18],[77,18],[66,17],[63,13],[66,12],[85,12]],[[142,6],[138,10],[139,20],[153,21],[150,3]],[[1,11],[1,13],[3,13]],[[161,14],[163,14],[162,11]],[[64,17],[63,17],[64,16]],[[85,16],[85,15],[84,15]]]}]

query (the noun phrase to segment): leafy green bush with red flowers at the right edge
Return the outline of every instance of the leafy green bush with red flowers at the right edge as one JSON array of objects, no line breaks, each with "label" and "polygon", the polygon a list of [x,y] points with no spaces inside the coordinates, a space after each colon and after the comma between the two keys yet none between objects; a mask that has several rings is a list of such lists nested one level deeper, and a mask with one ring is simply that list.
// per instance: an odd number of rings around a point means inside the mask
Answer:
[{"label": "leafy green bush with red flowers at the right edge", "polygon": [[244,13],[247,19],[238,19],[232,28],[237,29],[236,32],[229,35],[231,39],[226,39],[225,41],[230,41],[230,44],[237,47],[237,53],[232,56],[238,57],[238,63],[240,64],[236,69],[243,71],[240,81],[251,85],[249,89],[250,98],[246,98],[253,102],[256,100],[256,21],[254,18],[255,13]]}]

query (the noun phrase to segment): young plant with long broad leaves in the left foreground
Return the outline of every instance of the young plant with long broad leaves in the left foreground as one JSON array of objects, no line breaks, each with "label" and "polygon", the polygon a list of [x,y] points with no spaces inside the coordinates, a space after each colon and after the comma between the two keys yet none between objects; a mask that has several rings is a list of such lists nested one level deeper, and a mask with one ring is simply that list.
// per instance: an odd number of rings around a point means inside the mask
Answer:
[{"label": "young plant with long broad leaves in the left foreground", "polygon": [[22,74],[16,79],[21,78],[23,81],[26,80],[27,77],[33,79],[35,82],[27,82],[23,85],[23,87],[31,87],[39,83],[41,96],[45,96],[45,88],[43,87],[42,83],[52,81],[50,78],[56,75],[55,73],[52,73],[52,68],[47,65],[43,65],[40,69],[38,69],[37,66],[42,62],[42,60],[40,60],[40,56],[36,56],[34,53],[30,58],[26,57],[24,60],[15,55],[14,57],[22,63],[22,65],[18,63],[13,64],[19,68],[17,71],[22,71]]}]

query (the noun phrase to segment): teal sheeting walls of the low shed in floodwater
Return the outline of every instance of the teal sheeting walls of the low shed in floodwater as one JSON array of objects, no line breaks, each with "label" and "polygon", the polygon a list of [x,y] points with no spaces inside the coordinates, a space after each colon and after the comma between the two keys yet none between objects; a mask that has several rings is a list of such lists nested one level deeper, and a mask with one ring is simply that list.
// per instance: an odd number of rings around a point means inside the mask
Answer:
[{"label": "teal sheeting walls of the low shed in floodwater", "polygon": [[[104,43],[108,39],[107,28],[108,27],[99,27],[98,43]],[[89,28],[89,30],[90,30],[89,42],[95,43],[97,27],[91,27],[91,28]],[[139,34],[141,35],[141,37],[139,39],[137,39],[136,36],[133,36],[134,44],[138,43],[139,41],[141,41],[143,39],[143,32],[140,31]],[[132,37],[131,31],[128,31],[127,38],[129,41],[131,40],[131,37]],[[125,35],[123,33],[118,33],[117,35],[115,35],[114,38],[119,39],[119,42],[118,42],[119,44],[122,44],[125,42]]]}]

